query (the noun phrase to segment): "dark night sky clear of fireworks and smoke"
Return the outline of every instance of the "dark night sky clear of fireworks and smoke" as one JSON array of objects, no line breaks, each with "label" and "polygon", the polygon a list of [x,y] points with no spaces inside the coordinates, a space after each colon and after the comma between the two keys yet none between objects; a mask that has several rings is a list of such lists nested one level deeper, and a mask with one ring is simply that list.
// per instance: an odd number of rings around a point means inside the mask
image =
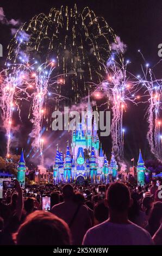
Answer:
[{"label": "dark night sky clear of fireworks and smoke", "polygon": [[[60,8],[63,4],[73,7],[77,3],[78,10],[82,10],[85,6],[89,6],[95,11],[97,16],[103,16],[114,29],[114,32],[120,36],[124,44],[127,45],[125,53],[126,59],[132,63],[129,66],[130,72],[140,74],[140,65],[144,64],[138,49],[142,51],[150,66],[157,63],[158,45],[162,43],[162,2],[161,0],[99,0],[99,1],[23,1],[23,0],[1,0],[0,7],[3,7],[6,17],[10,19],[20,19],[22,22],[29,21],[35,14],[48,14],[52,7]],[[3,66],[5,57],[7,56],[7,45],[12,38],[10,27],[0,25],[0,43],[3,45],[3,58],[0,58],[1,67]],[[161,65],[155,70],[157,77],[161,76]],[[147,105],[133,106],[128,104],[127,112],[124,113],[123,126],[125,133],[125,157],[128,161],[135,157],[138,159],[139,148],[142,150],[144,159],[152,157],[148,143],[146,140],[147,121],[144,118]],[[23,127],[26,130],[26,127]],[[30,129],[30,127],[27,127]],[[52,139],[52,137],[51,137]],[[20,147],[29,151],[27,138],[20,135]],[[101,139],[104,151],[110,156],[111,144],[110,138]],[[65,142],[64,142],[65,143]],[[0,155],[4,155],[5,143],[4,136],[1,132]],[[53,148],[51,149],[53,152]],[[53,155],[51,156],[53,157]]]}]

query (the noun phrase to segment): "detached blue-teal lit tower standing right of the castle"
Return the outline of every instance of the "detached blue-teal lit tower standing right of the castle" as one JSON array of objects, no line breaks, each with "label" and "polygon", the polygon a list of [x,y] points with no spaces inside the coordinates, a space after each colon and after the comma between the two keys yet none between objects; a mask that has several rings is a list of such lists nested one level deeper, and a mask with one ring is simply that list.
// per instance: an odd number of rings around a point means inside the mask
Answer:
[{"label": "detached blue-teal lit tower standing right of the castle", "polygon": [[138,166],[136,167],[138,185],[141,185],[141,186],[145,185],[145,170],[146,170],[146,167],[144,166],[144,160],[142,158],[142,154],[140,150]]}]

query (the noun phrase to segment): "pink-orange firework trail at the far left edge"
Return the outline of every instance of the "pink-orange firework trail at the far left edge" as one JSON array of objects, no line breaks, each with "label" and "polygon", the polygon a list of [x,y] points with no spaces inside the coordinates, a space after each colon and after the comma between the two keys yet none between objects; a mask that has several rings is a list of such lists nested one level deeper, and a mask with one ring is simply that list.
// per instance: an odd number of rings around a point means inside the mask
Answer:
[{"label": "pink-orange firework trail at the far left edge", "polygon": [[27,67],[20,64],[12,65],[1,72],[1,113],[3,128],[7,137],[7,156],[10,153],[11,131],[14,129],[12,128],[14,109],[17,107],[20,115],[18,101],[27,100],[29,97],[26,86],[26,70]]}]

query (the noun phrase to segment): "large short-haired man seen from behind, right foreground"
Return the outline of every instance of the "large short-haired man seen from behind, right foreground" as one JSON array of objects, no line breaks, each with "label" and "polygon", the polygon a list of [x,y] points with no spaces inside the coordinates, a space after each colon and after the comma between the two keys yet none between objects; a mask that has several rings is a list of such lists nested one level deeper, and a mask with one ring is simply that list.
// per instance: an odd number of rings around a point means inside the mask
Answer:
[{"label": "large short-haired man seen from behind, right foreground", "polygon": [[128,220],[132,203],[125,184],[115,182],[107,191],[109,218],[88,230],[83,245],[153,245],[149,233]]}]

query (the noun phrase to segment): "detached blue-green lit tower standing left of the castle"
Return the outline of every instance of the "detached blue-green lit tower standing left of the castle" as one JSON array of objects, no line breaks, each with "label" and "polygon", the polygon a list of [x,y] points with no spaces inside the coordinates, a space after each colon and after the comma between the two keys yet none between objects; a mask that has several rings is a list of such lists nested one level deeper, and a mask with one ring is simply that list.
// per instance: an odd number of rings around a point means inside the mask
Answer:
[{"label": "detached blue-green lit tower standing left of the castle", "polygon": [[17,167],[17,180],[19,181],[20,186],[24,188],[26,184],[26,162],[24,161],[23,149]]}]

